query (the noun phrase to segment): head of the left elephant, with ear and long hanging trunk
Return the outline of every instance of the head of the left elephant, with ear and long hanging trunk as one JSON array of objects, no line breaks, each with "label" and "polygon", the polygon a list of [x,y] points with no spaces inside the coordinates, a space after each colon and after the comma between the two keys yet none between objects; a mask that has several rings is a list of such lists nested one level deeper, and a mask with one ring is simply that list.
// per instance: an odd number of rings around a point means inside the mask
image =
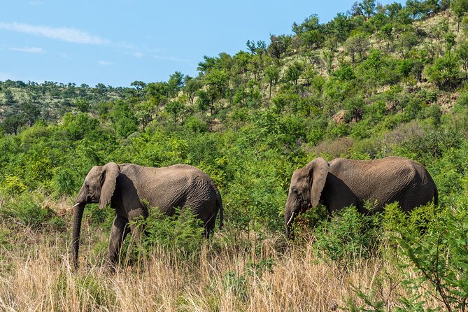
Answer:
[{"label": "head of the left elephant, with ear and long hanging trunk", "polygon": [[104,166],[94,166],[85,178],[85,182],[76,197],[73,216],[73,262],[78,267],[78,241],[80,239],[81,219],[86,204],[99,203],[104,208],[111,202],[112,195],[120,174],[120,167],[114,162]]}]

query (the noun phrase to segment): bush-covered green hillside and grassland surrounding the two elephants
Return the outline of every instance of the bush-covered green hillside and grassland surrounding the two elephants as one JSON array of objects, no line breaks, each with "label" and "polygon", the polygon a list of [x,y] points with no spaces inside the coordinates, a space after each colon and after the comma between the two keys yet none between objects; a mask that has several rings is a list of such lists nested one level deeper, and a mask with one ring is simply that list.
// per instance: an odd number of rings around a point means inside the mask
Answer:
[{"label": "bush-covered green hillside and grassland surrounding the two elephants", "polygon": [[[149,277],[142,271],[161,273],[162,263],[176,294],[153,294],[152,304],[169,310],[467,311],[467,10],[466,0],[363,0],[325,24],[310,15],[292,24],[292,34],[206,56],[197,77],[176,71],[167,81],[129,87],[0,82],[0,281],[8,285],[0,307],[30,309],[21,302],[34,300],[15,292],[18,278],[31,279],[32,286],[21,285],[40,297],[34,285],[44,282],[31,278],[40,274],[20,269],[31,263],[50,275],[43,294],[50,300],[36,309],[139,309],[137,300],[116,299],[124,281],[141,283],[135,296],[143,299]],[[390,155],[427,167],[439,207],[404,215],[390,205],[374,216],[351,207],[331,221],[319,207],[298,222],[298,238],[286,241],[283,209],[294,169],[317,156]],[[122,255],[122,267],[137,269],[121,272],[115,284],[104,274],[74,274],[64,257],[71,203],[91,166],[106,162],[203,169],[222,194],[225,230],[202,242],[190,216],[156,215],[147,221],[150,236]],[[113,211],[88,205],[86,213],[83,252],[95,264]],[[281,288],[275,278],[297,287]],[[329,292],[310,292],[325,280]]]}]

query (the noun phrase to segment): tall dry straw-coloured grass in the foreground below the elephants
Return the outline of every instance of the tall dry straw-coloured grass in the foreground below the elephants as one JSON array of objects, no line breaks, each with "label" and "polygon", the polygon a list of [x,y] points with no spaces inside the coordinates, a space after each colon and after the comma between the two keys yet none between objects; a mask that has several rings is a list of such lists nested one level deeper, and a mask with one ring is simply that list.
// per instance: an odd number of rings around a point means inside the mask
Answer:
[{"label": "tall dry straw-coloured grass in the foreground below the elephants", "polygon": [[355,288],[373,290],[391,311],[404,293],[388,260],[357,260],[343,274],[319,260],[312,243],[288,246],[281,236],[249,244],[218,233],[197,259],[155,250],[111,274],[92,243],[104,248],[104,230],[83,229],[74,271],[69,233],[8,226],[0,235],[0,311],[341,311],[350,299],[363,304]]}]

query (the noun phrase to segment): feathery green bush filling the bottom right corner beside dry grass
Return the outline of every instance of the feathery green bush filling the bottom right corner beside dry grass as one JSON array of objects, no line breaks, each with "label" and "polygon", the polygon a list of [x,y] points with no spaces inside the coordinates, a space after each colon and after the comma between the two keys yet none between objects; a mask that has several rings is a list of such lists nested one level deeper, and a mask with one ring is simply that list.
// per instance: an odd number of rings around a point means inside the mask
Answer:
[{"label": "feathery green bush filling the bottom right corner beside dry grass", "polygon": [[[468,298],[468,212],[467,197],[457,206],[437,213],[434,206],[422,206],[409,215],[399,217],[394,228],[399,251],[404,255],[404,267],[416,270],[404,284],[421,288],[430,283],[446,311],[466,311]],[[419,301],[411,303],[420,305]]]}]

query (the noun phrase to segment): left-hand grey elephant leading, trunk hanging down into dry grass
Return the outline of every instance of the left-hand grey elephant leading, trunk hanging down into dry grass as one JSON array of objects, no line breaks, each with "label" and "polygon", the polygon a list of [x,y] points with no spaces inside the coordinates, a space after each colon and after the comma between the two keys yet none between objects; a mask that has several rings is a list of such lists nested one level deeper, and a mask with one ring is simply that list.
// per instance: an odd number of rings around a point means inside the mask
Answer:
[{"label": "left-hand grey elephant leading, trunk hanging down into dry grass", "polygon": [[[73,221],[73,262],[78,267],[78,241],[81,219],[86,204],[99,203],[99,208],[111,205],[115,218],[106,260],[115,264],[125,236],[132,232],[136,239],[141,229],[129,226],[129,221],[148,216],[148,206],[158,207],[167,215],[174,207],[190,207],[190,211],[203,222],[205,236],[215,227],[220,211],[222,227],[222,201],[213,180],[203,171],[185,164],[151,168],[137,164],[94,166],[85,178],[76,198]],[[147,206],[148,204],[148,206]]]}]

